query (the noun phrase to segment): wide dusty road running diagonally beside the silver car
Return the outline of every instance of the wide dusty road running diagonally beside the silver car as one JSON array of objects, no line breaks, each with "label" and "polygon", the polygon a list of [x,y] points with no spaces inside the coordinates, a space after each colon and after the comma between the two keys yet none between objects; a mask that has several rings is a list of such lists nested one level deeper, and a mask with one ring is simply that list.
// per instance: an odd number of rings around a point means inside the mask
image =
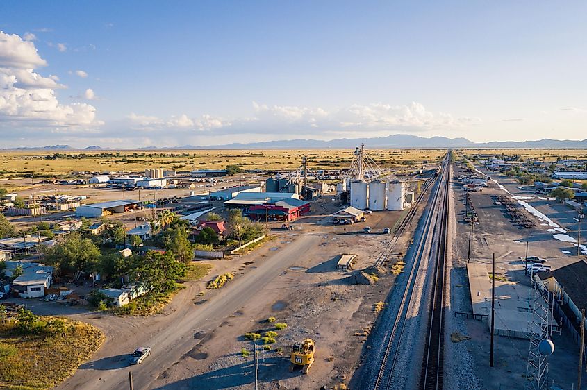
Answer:
[{"label": "wide dusty road running diagonally beside the silver car", "polygon": [[[195,332],[210,331],[217,328],[227,316],[230,316],[249,300],[254,299],[265,285],[279,276],[285,269],[295,264],[300,255],[312,246],[320,244],[320,235],[304,235],[288,244],[283,250],[258,261],[258,267],[233,280],[223,288],[221,294],[210,299],[208,303],[195,306],[190,300],[179,307],[174,316],[163,317],[156,324],[156,330],[143,332],[135,329],[135,346],[151,346],[153,353],[143,364],[133,366],[135,389],[151,389],[154,381],[167,368],[171,367],[186,353],[195,348],[198,341]],[[109,344],[122,337],[117,334]],[[124,355],[129,351],[120,340],[121,348],[114,357],[94,358],[83,364],[80,369],[60,385],[58,389],[128,389],[129,366],[124,364]],[[116,345],[116,344],[115,344]],[[116,349],[116,348],[115,348]]]}]

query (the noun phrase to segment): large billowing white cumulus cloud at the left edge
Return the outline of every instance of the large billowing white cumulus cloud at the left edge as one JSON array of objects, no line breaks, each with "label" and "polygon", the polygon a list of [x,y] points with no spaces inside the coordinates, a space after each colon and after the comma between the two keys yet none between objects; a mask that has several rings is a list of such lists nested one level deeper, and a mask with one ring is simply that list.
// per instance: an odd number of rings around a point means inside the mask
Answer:
[{"label": "large billowing white cumulus cloud at the left edge", "polygon": [[99,124],[92,105],[59,103],[55,90],[64,86],[58,78],[35,72],[44,65],[33,42],[0,31],[0,130]]}]

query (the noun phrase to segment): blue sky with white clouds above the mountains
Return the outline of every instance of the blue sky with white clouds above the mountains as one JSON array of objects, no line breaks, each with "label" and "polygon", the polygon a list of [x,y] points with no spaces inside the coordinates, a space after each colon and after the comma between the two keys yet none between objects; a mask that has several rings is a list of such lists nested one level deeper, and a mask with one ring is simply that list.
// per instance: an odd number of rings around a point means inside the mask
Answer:
[{"label": "blue sky with white clouds above the mountains", "polygon": [[0,148],[587,138],[585,1],[0,2]]}]

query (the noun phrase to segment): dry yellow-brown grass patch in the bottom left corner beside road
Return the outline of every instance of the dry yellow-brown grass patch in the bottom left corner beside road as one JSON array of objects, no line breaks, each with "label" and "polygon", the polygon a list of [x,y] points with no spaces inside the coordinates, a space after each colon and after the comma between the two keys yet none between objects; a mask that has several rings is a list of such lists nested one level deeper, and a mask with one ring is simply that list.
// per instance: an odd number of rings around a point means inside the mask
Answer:
[{"label": "dry yellow-brown grass patch in the bottom left corner beside road", "polygon": [[[54,319],[39,317],[38,323]],[[51,389],[72,375],[104,342],[104,334],[92,325],[62,321],[66,330],[58,334],[22,332],[13,321],[0,324],[0,388]]]}]

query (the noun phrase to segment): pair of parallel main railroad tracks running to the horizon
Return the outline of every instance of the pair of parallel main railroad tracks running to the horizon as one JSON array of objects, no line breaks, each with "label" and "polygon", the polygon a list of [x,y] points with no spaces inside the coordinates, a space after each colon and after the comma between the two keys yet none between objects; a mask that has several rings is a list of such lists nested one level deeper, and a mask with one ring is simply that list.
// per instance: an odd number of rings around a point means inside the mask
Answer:
[{"label": "pair of parallel main railroad tracks running to the horizon", "polygon": [[[402,295],[401,303],[399,304],[397,312],[386,313],[389,316],[395,316],[390,331],[386,334],[386,346],[381,358],[381,365],[377,373],[377,378],[374,381],[374,390],[388,390],[392,387],[394,381],[395,371],[397,370],[397,362],[399,358],[399,346],[402,345],[402,337],[404,335],[404,329],[406,325],[406,317],[408,309],[410,307],[413,289],[415,285],[415,276],[417,270],[420,268],[420,263],[425,255],[425,247],[428,242],[427,237],[433,235],[433,221],[435,217],[440,216],[440,239],[438,239],[438,248],[436,251],[436,269],[434,271],[434,283],[433,292],[431,299],[431,315],[428,324],[427,332],[427,344],[424,350],[424,359],[422,362],[422,375],[420,378],[421,389],[442,389],[442,368],[443,368],[443,299],[444,299],[444,264],[445,264],[445,249],[446,249],[446,228],[447,228],[447,217],[448,207],[447,202],[449,199],[449,164],[450,164],[450,153],[444,163],[444,169],[438,177],[438,184],[435,191],[433,192],[433,200],[431,205],[436,207],[439,201],[440,210],[439,214],[435,214],[433,210],[427,214],[427,218],[424,221],[422,230],[422,238],[417,242],[415,248],[415,255],[411,269],[407,275],[407,280],[404,286],[404,294]],[[443,191],[443,183],[445,189]],[[442,193],[442,197],[441,197]],[[438,222],[437,222],[438,224]],[[407,223],[406,223],[407,225]],[[406,226],[405,225],[405,226]],[[405,228],[404,226],[404,228]],[[397,241],[397,240],[396,240]],[[391,246],[392,244],[390,244]],[[440,257],[442,259],[440,259]],[[441,264],[440,264],[441,263]],[[440,271],[439,271],[440,270]],[[440,304],[437,304],[440,301]],[[436,334],[436,336],[435,336]],[[436,359],[436,363],[434,360]]]}]

